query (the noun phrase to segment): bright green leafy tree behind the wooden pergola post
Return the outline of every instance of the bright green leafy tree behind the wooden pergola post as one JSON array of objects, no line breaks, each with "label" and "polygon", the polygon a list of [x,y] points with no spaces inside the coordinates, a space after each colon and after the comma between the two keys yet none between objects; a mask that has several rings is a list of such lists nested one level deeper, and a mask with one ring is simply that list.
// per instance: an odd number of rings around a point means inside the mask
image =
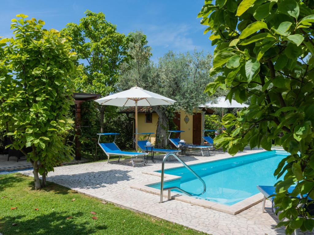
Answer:
[{"label": "bright green leafy tree behind the wooden pergola post", "polygon": [[[77,64],[84,65],[82,76],[74,79],[78,92],[107,96],[115,91],[119,66],[128,59],[128,37],[116,31],[116,25],[106,21],[104,13],[89,10],[79,24],[69,23],[62,29],[63,36],[72,37],[72,50],[77,53]],[[116,107],[97,105],[100,132]],[[95,111],[96,112],[96,111]]]}]

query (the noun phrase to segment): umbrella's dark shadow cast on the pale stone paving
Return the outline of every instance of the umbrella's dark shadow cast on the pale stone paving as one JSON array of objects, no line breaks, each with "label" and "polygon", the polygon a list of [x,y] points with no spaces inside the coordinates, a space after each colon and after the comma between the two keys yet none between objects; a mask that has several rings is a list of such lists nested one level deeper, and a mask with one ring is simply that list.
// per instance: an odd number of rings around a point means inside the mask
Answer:
[{"label": "umbrella's dark shadow cast on the pale stone paving", "polygon": [[[78,173],[73,175],[50,175],[47,180],[59,185],[74,189],[99,189],[108,185],[117,184],[119,181],[129,181],[133,177],[130,170],[104,170]],[[63,191],[56,193],[63,193]]]}]

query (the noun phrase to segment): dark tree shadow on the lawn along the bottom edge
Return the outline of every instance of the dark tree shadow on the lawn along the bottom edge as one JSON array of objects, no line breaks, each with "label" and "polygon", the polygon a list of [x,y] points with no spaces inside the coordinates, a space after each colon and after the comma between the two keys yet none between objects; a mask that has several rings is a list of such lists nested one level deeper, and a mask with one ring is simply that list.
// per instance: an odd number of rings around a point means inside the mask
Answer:
[{"label": "dark tree shadow on the lawn along the bottom edge", "polygon": [[[68,217],[73,217],[67,219]],[[68,215],[62,215],[58,212],[51,212],[45,215],[38,215],[31,219],[25,219],[24,216],[7,216],[0,222],[0,228],[3,234],[39,234],[39,235],[49,235],[49,234],[91,234],[95,232],[100,232],[107,229],[107,226],[95,225],[97,223],[91,216],[90,222],[85,220],[80,220],[83,213],[78,212]],[[16,223],[16,226],[12,226]],[[105,234],[105,231],[103,231]]]}]

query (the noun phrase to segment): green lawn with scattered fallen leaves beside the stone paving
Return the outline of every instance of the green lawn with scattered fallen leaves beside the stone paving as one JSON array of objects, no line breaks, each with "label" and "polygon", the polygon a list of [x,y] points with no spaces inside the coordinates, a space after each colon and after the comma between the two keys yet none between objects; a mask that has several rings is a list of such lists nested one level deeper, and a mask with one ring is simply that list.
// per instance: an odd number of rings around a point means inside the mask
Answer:
[{"label": "green lawn with scattered fallen leaves beside the stone paving", "polygon": [[[11,207],[16,209],[11,210]],[[92,219],[93,216],[97,220]],[[18,173],[0,175],[0,233],[203,234],[113,204],[102,204],[95,198],[51,182],[46,188],[36,191],[33,178]]]}]

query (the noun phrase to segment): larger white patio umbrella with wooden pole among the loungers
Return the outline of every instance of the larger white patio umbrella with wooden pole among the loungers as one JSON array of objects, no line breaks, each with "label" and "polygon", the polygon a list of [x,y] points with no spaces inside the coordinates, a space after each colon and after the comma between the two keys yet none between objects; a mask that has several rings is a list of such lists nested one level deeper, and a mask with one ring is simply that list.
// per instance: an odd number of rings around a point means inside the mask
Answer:
[{"label": "larger white patio umbrella with wooden pole among the loungers", "polygon": [[175,100],[158,95],[151,91],[146,91],[137,86],[134,86],[127,91],[121,91],[95,101],[102,105],[113,105],[120,107],[135,106],[135,149],[138,148],[138,106],[172,105],[174,102],[176,102]]}]

